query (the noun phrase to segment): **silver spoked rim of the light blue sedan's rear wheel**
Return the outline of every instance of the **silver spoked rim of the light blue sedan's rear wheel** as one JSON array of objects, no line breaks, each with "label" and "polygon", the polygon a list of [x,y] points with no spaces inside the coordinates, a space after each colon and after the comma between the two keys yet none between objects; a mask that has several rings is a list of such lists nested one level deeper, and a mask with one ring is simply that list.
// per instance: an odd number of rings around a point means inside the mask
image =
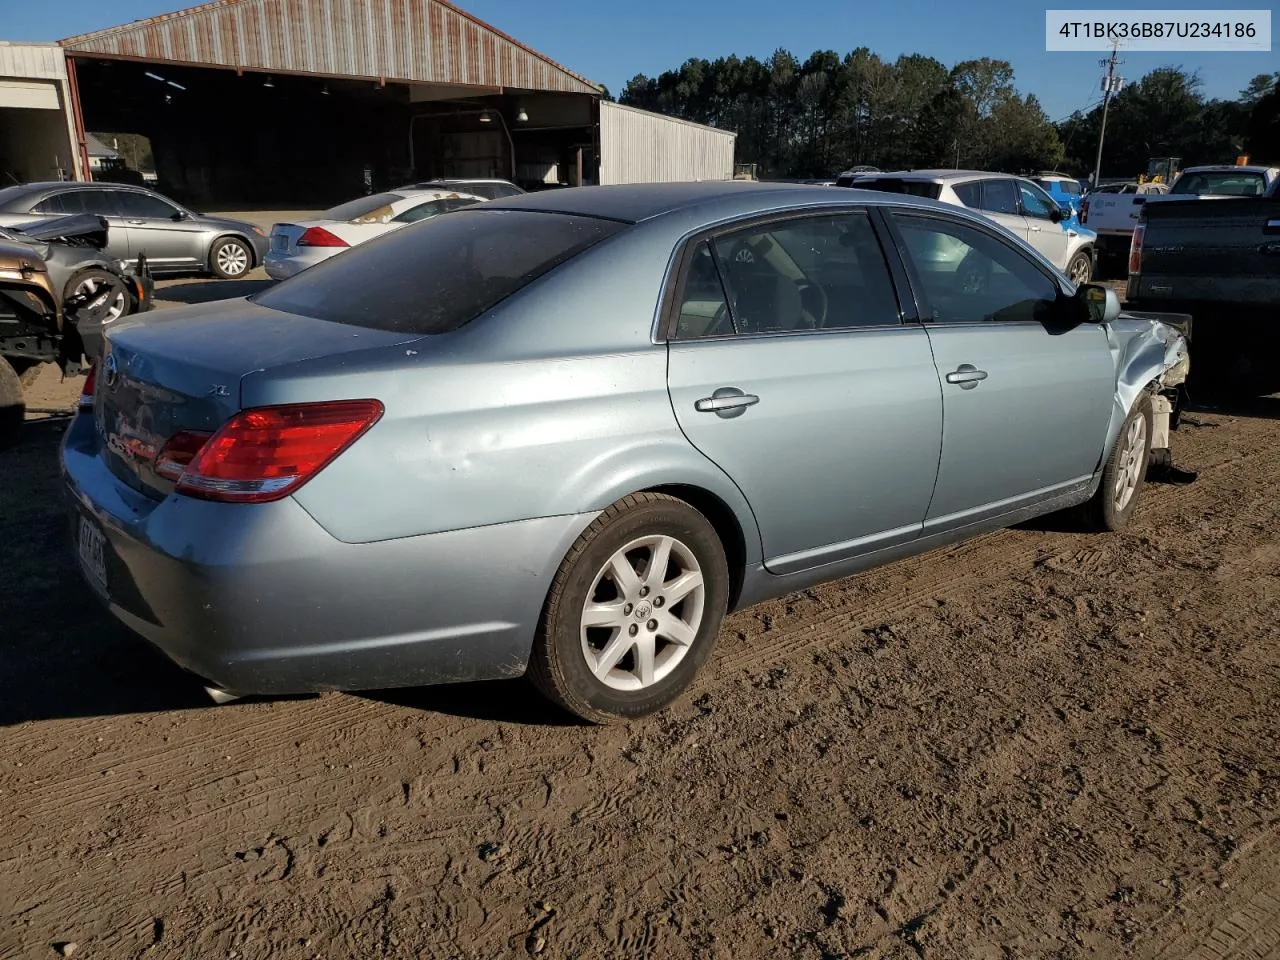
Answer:
[{"label": "silver spoked rim of the light blue sedan's rear wheel", "polygon": [[617,550],[582,604],[588,669],[613,690],[644,690],[685,659],[707,608],[694,552],[673,536],[643,536]]}]

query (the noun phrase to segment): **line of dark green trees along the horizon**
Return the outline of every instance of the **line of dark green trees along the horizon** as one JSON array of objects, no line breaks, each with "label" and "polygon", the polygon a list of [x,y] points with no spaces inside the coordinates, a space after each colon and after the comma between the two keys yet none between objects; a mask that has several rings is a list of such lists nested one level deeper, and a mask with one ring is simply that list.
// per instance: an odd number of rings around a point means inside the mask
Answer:
[{"label": "line of dark green trees along the horizon", "polygon": [[[831,177],[856,164],[884,170],[965,168],[1025,173],[1093,170],[1101,105],[1060,122],[1014,83],[1005,60],[947,68],[932,56],[881,59],[867,47],[786,50],[759,60],[690,59],[632,78],[618,101],[737,132],[737,161],[762,178]],[[1236,100],[1210,100],[1178,67],[1152,70],[1112,99],[1103,177],[1135,175],[1149,156],[1183,164],[1240,152],[1280,161],[1280,73],[1253,79]]]}]

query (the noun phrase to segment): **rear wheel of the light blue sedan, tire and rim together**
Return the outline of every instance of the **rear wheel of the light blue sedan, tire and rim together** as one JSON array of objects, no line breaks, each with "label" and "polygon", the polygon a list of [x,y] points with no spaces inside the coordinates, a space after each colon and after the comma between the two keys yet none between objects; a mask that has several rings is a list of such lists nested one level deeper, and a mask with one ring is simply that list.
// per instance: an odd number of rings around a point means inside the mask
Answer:
[{"label": "rear wheel of the light blue sedan, tire and rim together", "polygon": [[[650,571],[663,556],[664,570]],[[547,698],[591,723],[654,713],[689,686],[710,654],[728,584],[724,548],[707,517],[675,497],[625,497],[561,563],[529,676]],[[664,594],[663,585],[680,596]]]}]

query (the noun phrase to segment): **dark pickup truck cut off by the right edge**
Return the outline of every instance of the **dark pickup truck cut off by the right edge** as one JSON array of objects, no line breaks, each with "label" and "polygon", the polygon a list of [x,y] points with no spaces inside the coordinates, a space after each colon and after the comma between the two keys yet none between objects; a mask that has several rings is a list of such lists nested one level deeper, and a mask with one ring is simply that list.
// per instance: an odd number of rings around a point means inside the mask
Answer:
[{"label": "dark pickup truck cut off by the right edge", "polygon": [[1192,315],[1193,384],[1280,390],[1280,179],[1261,197],[1143,205],[1125,293],[1126,310]]}]

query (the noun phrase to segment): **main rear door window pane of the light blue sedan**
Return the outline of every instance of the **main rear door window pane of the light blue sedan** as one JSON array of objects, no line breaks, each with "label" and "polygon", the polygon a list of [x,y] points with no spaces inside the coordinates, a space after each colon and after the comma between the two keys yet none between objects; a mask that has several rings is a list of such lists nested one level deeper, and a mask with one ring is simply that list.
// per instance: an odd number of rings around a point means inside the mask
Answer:
[{"label": "main rear door window pane of the light blue sedan", "polygon": [[749,227],[717,237],[710,250],[737,333],[900,323],[888,265],[865,212]]}]

